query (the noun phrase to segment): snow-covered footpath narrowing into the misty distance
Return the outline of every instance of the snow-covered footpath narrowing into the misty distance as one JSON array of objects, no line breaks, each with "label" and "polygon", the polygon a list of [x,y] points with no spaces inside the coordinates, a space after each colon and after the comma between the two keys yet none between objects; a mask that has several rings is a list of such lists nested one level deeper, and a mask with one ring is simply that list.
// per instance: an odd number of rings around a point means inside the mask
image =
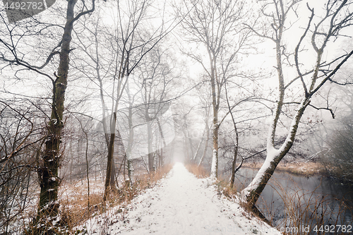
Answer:
[{"label": "snow-covered footpath narrowing into the misty distance", "polygon": [[154,188],[86,222],[88,234],[280,234],[177,163]]}]

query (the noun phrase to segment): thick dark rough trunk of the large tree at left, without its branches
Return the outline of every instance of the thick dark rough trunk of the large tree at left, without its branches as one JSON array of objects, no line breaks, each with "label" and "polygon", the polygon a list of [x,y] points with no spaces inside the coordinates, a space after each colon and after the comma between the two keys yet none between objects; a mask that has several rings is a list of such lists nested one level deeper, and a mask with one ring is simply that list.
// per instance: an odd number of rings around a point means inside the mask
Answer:
[{"label": "thick dark rough trunk of the large tree at left, without its branches", "polygon": [[[68,1],[66,13],[66,25],[61,42],[61,52],[58,74],[53,82],[53,101],[51,120],[47,125],[47,136],[45,140],[45,150],[42,155],[42,163],[37,171],[40,179],[40,202],[38,206],[38,214],[36,223],[37,234],[53,234],[49,227],[55,226],[58,214],[59,203],[58,188],[59,176],[58,170],[61,162],[60,143],[61,131],[64,128],[63,113],[65,91],[68,78],[68,61],[71,44],[71,32],[73,30],[73,9],[77,0]],[[42,227],[45,226],[45,227]]]}]

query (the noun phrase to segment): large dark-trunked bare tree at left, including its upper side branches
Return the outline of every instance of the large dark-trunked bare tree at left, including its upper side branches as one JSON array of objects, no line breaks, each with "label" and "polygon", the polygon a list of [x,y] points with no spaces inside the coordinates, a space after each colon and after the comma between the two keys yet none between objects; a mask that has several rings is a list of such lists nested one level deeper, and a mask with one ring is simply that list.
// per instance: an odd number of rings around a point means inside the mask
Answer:
[{"label": "large dark-trunked bare tree at left, including its upper side branches", "polygon": [[[57,198],[60,184],[58,170],[62,159],[60,138],[61,131],[64,128],[64,100],[68,80],[69,54],[71,52],[71,32],[74,23],[81,16],[92,13],[95,10],[95,0],[92,0],[90,9],[88,9],[89,5],[82,1],[80,10],[76,10],[76,8],[78,8],[76,4],[78,4],[78,0],[70,0],[67,2],[65,22],[63,25],[40,23],[37,18],[30,18],[30,20],[25,20],[23,23],[13,23],[11,25],[7,23],[4,16],[1,15],[2,21],[6,25],[4,28],[6,34],[2,33],[0,37],[0,43],[4,49],[4,52],[0,53],[1,61],[34,71],[40,76],[49,78],[53,85],[51,120],[47,124],[45,150],[41,156],[40,167],[37,169],[40,178],[40,203],[35,222],[35,224],[39,224],[39,226],[35,226],[35,228],[38,234],[53,233],[54,231],[52,231],[50,227],[54,226],[60,220],[57,218],[59,215],[59,203]],[[25,54],[25,49],[23,49],[23,44],[25,44],[25,42],[23,42],[24,39],[30,37],[35,41],[36,37],[38,37],[41,32],[36,32],[36,30],[47,30],[47,28],[51,27],[58,27],[62,30],[59,44],[52,47],[52,51],[49,52],[47,59],[44,60],[42,65],[36,66],[35,61],[26,61],[26,57],[23,56]],[[18,28],[20,29],[18,30]],[[57,73],[54,72],[53,76],[52,73],[47,72],[45,69],[56,54],[59,54],[59,61],[57,64]],[[47,226],[48,224],[49,226]]]}]

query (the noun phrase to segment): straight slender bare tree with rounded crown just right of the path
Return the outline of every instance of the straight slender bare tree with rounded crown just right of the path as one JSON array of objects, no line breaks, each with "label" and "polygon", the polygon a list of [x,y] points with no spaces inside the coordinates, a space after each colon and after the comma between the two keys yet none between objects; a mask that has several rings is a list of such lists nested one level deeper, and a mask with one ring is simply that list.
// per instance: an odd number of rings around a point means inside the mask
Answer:
[{"label": "straight slender bare tree with rounded crown just right of the path", "polygon": [[[184,1],[184,9],[178,9],[183,17],[185,40],[205,49],[207,54],[184,52],[203,67],[211,84],[213,107],[213,157],[211,178],[217,178],[219,112],[225,78],[239,54],[251,48],[250,30],[242,27],[250,22],[251,13],[245,1]],[[203,59],[203,57],[208,59]],[[223,65],[223,68],[222,68]]]}]

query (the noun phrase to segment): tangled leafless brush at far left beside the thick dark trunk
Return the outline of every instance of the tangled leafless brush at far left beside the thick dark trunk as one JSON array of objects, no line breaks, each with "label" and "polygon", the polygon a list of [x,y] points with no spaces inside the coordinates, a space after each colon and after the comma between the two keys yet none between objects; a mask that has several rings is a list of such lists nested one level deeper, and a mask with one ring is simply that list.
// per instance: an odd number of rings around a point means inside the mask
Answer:
[{"label": "tangled leafless brush at far left beside the thick dark trunk", "polygon": [[18,232],[13,222],[35,195],[37,146],[43,142],[37,111],[27,99],[0,101],[0,231],[4,234]]}]

